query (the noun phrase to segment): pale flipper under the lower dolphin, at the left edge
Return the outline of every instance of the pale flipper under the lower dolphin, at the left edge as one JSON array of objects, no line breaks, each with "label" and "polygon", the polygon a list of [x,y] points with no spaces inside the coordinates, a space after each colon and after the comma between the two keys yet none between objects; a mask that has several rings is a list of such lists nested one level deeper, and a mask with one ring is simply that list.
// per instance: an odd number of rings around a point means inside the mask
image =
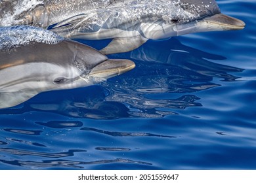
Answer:
[{"label": "pale flipper under the lower dolphin, at the left edge", "polygon": [[0,108],[14,107],[37,95],[36,91],[0,93]]}]

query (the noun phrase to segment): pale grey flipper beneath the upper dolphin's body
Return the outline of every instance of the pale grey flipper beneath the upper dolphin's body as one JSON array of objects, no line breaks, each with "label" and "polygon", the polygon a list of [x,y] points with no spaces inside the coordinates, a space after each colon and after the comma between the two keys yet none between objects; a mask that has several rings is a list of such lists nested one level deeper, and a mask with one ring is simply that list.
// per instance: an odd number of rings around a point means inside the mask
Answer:
[{"label": "pale grey flipper beneath the upper dolphin's body", "polygon": [[100,50],[100,52],[105,55],[130,52],[131,50],[139,48],[139,46],[146,41],[148,41],[148,39],[141,36],[115,38],[108,44],[108,46]]}]

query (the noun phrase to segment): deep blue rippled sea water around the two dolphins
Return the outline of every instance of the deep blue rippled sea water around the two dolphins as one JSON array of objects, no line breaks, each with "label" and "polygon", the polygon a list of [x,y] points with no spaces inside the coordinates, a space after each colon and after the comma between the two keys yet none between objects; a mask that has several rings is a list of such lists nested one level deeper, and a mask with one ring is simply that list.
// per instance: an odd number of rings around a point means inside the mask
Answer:
[{"label": "deep blue rippled sea water around the two dolphins", "polygon": [[109,56],[129,73],[0,110],[0,169],[256,169],[256,1],[217,3],[245,29],[148,41]]}]

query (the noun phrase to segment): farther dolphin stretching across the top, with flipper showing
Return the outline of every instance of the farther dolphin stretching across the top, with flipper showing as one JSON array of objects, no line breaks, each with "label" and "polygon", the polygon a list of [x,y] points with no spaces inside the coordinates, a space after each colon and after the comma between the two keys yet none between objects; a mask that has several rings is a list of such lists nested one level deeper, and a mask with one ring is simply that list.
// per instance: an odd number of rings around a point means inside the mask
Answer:
[{"label": "farther dolphin stretching across the top, with flipper showing", "polygon": [[2,0],[0,25],[34,25],[70,39],[113,39],[104,54],[127,52],[148,39],[243,29],[214,0]]}]

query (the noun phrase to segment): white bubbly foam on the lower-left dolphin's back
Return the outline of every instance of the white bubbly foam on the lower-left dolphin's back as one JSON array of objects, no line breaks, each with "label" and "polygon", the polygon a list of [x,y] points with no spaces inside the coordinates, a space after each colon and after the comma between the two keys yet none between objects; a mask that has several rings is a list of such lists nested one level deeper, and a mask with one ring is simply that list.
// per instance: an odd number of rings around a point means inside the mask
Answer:
[{"label": "white bubbly foam on the lower-left dolphin's back", "polygon": [[57,44],[63,40],[64,38],[56,33],[39,27],[28,25],[0,27],[0,50],[2,51],[11,50],[12,48],[33,44],[35,42]]}]

